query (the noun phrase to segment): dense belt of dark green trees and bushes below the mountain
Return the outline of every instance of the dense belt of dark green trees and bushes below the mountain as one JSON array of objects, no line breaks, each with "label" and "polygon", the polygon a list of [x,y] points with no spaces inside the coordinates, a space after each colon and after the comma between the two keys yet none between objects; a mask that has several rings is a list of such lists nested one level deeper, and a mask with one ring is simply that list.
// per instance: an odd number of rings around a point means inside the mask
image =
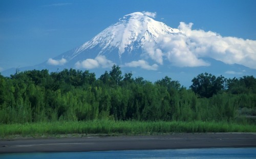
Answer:
[{"label": "dense belt of dark green trees and bushes below the mountain", "polygon": [[[237,121],[255,115],[256,78],[204,73],[191,89],[164,77],[155,83],[113,66],[98,79],[87,71],[0,74],[0,123],[81,121]],[[242,120],[242,119],[241,119]]]}]

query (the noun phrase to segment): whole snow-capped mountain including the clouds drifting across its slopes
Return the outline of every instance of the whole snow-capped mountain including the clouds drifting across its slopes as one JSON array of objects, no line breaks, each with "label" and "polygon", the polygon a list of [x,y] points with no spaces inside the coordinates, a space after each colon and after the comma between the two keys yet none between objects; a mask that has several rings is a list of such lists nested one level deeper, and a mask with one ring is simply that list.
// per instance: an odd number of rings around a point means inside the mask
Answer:
[{"label": "whole snow-capped mountain including the clouds drifting across its slopes", "polygon": [[146,80],[168,75],[185,86],[203,72],[225,77],[256,75],[255,41],[191,30],[192,25],[180,22],[173,29],[144,12],[127,14],[81,46],[20,70],[75,68],[99,76],[116,64],[123,72],[132,71]]}]

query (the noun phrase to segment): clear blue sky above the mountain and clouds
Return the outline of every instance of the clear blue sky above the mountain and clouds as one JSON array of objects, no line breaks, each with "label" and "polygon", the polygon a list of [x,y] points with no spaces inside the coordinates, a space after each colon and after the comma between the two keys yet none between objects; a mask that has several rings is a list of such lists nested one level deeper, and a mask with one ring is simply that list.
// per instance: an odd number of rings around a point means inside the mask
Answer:
[{"label": "clear blue sky above the mountain and clouds", "polygon": [[0,71],[33,66],[90,40],[133,12],[172,28],[256,40],[256,1],[0,1]]}]

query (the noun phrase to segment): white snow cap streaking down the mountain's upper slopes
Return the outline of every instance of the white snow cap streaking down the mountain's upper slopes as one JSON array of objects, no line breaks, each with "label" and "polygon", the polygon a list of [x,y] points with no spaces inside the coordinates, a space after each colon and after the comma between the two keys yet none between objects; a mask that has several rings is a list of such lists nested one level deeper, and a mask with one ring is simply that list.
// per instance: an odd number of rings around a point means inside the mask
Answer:
[{"label": "white snow cap streaking down the mountain's upper slopes", "polygon": [[146,42],[156,42],[160,35],[180,33],[166,24],[156,21],[141,12],[125,15],[119,21],[96,35],[92,40],[78,47],[69,57],[73,59],[86,49],[100,47],[98,56],[104,55],[106,51],[118,48],[118,55],[127,50],[131,52],[140,47],[144,48]]}]

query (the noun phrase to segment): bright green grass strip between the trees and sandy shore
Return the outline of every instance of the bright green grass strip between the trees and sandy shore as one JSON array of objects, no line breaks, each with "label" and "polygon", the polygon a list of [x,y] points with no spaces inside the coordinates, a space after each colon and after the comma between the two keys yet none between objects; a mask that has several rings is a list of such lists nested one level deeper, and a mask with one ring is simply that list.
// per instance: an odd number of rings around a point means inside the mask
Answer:
[{"label": "bright green grass strip between the trees and sandy shore", "polygon": [[58,121],[25,124],[1,124],[0,137],[13,135],[40,137],[59,134],[156,134],[156,133],[255,133],[255,125],[227,122],[180,122],[180,121]]}]

